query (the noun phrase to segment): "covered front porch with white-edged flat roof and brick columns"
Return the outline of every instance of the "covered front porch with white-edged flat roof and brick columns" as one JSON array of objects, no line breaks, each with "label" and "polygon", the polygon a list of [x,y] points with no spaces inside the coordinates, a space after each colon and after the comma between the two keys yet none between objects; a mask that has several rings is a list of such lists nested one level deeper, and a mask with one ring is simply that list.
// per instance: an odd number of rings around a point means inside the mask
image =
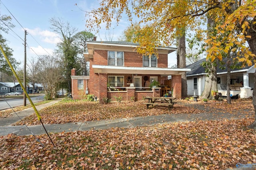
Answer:
[{"label": "covered front porch with white-edged flat roof and brick columns", "polygon": [[[97,99],[115,101],[122,96],[123,101],[143,100],[146,96],[160,97],[164,92],[175,98],[181,98],[181,72],[187,68],[149,68],[92,65],[99,80]],[[169,80],[168,80],[169,78]],[[159,82],[159,87],[150,87],[152,81]]]}]

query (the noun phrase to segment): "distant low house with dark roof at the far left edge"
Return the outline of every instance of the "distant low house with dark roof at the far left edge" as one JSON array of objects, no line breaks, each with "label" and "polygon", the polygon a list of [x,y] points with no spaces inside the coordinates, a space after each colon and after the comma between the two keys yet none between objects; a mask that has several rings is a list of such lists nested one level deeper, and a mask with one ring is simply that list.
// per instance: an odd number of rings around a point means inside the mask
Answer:
[{"label": "distant low house with dark roof at the far left edge", "polygon": [[22,94],[23,90],[18,82],[0,82],[0,93],[10,92],[20,92]]}]

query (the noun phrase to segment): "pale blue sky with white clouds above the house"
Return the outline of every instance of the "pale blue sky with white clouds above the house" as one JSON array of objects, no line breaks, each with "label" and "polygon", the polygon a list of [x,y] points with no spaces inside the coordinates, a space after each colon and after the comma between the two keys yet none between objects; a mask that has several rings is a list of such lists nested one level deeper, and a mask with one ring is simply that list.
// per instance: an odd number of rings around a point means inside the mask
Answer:
[{"label": "pale blue sky with white clouds above the house", "polygon": [[[27,62],[37,55],[52,55],[60,39],[50,29],[49,20],[53,17],[62,18],[78,31],[88,31],[85,27],[87,18],[84,11],[90,11],[98,5],[98,0],[0,0],[0,14],[11,16],[12,23],[16,25],[8,34],[3,33],[3,36],[8,39],[8,45],[13,49],[13,57],[21,63],[24,63],[24,29],[27,31]],[[128,20],[122,18],[109,31],[102,25],[98,34],[91,32],[96,35],[97,41],[107,41],[108,35],[113,36],[113,41],[118,41],[122,31],[129,25]],[[169,65],[176,63],[174,56],[175,53],[169,55]]]}]

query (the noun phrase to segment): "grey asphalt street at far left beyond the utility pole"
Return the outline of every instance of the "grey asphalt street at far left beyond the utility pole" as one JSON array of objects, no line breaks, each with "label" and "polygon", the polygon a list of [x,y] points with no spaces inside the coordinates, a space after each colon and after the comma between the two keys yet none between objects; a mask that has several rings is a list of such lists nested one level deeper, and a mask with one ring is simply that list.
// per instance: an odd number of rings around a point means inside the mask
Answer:
[{"label": "grey asphalt street at far left beyond the utility pole", "polygon": [[[33,96],[30,96],[30,98],[31,98],[31,100],[32,100],[32,102],[33,103],[35,103],[35,102],[40,102],[40,101],[43,101],[44,100],[44,95],[43,96],[35,96],[35,97],[33,97]],[[0,99],[2,99],[2,98],[0,98]],[[3,109],[9,109],[10,108],[10,106],[11,107],[17,107],[17,106],[23,106],[24,105],[24,100],[23,100],[23,98],[22,99],[8,99],[8,100],[6,100],[6,101],[4,101],[4,100],[1,100],[0,101],[0,110],[3,110]],[[26,104],[28,105],[28,104],[30,104],[30,102],[29,102],[29,100],[27,99],[26,100]]]}]

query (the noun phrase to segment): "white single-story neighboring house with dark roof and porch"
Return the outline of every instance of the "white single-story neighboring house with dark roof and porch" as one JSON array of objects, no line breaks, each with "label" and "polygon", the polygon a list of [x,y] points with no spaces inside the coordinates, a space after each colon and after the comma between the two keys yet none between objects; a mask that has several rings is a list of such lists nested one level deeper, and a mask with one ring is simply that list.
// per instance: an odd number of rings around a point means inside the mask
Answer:
[{"label": "white single-story neighboring house with dark roof and porch", "polygon": [[[196,63],[186,66],[190,68],[190,72],[186,72],[187,75],[187,85],[188,85],[188,96],[201,96],[204,91],[204,85],[206,80],[206,72],[204,67],[200,64],[206,61],[206,59],[201,59]],[[254,66],[246,66],[240,69],[231,70],[230,76],[230,94],[239,94],[240,98],[252,97],[252,90],[254,87]],[[226,84],[227,84],[227,69],[217,68],[217,83],[218,92],[222,96],[226,96]]]}]

